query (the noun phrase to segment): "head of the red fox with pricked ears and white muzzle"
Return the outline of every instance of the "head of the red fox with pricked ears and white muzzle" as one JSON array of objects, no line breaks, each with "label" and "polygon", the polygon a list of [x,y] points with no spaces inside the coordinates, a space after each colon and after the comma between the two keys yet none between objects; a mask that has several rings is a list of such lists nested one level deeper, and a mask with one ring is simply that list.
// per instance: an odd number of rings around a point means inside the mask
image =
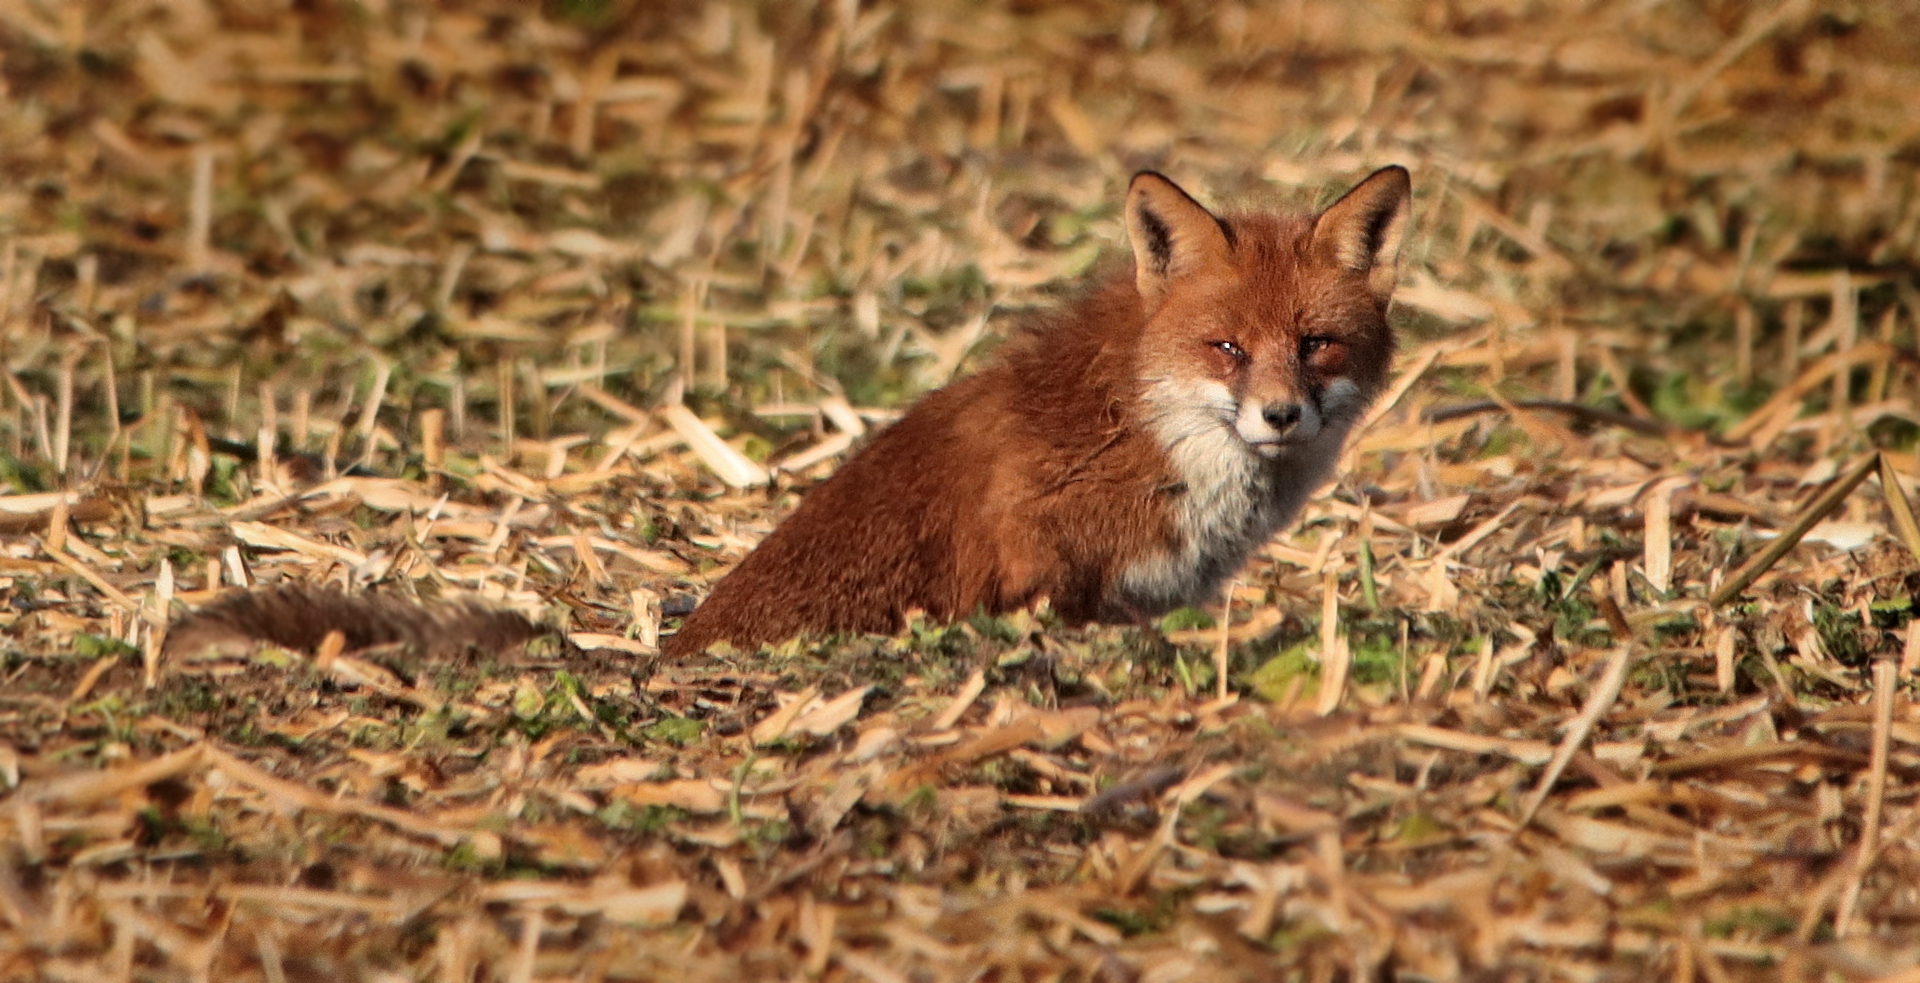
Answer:
[{"label": "head of the red fox with pricked ears and white muzzle", "polygon": [[1313,217],[1223,219],[1165,177],[1135,175],[1140,378],[1175,457],[1338,447],[1392,361],[1409,198],[1407,171],[1382,167]]}]

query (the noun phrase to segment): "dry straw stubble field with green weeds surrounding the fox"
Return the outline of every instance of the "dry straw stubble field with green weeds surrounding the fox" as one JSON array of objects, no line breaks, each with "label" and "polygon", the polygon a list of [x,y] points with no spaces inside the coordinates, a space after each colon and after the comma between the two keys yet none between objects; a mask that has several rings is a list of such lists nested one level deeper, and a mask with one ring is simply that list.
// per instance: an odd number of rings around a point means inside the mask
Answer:
[{"label": "dry straw stubble field with green weeds surrounding the fox", "polygon": [[[0,0],[0,977],[1920,979],[1914,36]],[[657,657],[1135,169],[1384,163],[1398,382],[1223,607]],[[276,584],[561,635],[165,643]]]}]

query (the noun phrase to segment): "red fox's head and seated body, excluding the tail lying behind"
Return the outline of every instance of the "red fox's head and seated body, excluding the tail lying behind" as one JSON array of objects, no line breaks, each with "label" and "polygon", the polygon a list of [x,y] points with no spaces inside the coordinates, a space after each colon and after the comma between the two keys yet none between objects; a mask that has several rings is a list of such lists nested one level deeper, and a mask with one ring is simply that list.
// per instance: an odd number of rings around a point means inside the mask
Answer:
[{"label": "red fox's head and seated body, excluding the tail lying behind", "polygon": [[1386,380],[1411,182],[1215,217],[1127,186],[1133,275],[1018,332],[814,488],[664,643],[897,632],[1046,597],[1073,624],[1213,599]]}]

